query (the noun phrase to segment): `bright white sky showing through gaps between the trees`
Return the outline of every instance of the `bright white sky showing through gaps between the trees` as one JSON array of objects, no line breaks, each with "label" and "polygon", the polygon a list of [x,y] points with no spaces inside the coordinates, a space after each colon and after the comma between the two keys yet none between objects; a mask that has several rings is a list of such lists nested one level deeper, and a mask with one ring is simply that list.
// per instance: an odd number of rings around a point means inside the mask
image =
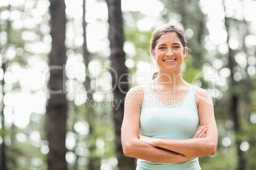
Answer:
[{"label": "bright white sky showing through gaps between the trees", "polygon": [[[10,0],[10,1],[0,1],[0,6],[7,6],[11,4],[11,6],[20,6],[25,3],[25,12],[27,14],[30,13],[31,16],[27,16],[26,18],[22,18],[23,14],[20,11],[3,11],[0,14],[1,20],[6,20],[10,18],[13,21],[13,29],[21,29],[25,27],[27,29],[32,29],[36,24],[43,22],[43,17],[45,13],[48,13],[49,2],[47,0],[40,0],[35,8],[32,8],[34,2],[33,0]],[[81,46],[83,43],[82,38],[82,1],[73,1],[66,0],[66,13],[69,18],[74,18],[73,25],[69,24],[67,26],[67,45],[68,46]],[[245,20],[247,22],[252,22],[250,30],[254,33],[254,35],[246,37],[246,46],[255,46],[256,45],[256,1],[245,0],[245,6],[242,5],[243,1],[239,0],[228,0],[226,1],[227,6],[227,15],[234,15],[238,20]],[[136,4],[136,5],[134,5]],[[222,6],[222,0],[212,1],[212,0],[201,0],[200,3],[203,8],[203,12],[208,15],[207,27],[210,30],[210,36],[208,37],[209,42],[206,44],[206,48],[211,51],[211,47],[214,45],[219,45],[220,53],[227,53],[227,45],[224,42],[227,39],[227,33],[224,30],[224,11]],[[147,17],[139,20],[136,24],[138,29],[150,30],[151,27],[159,24],[159,12],[162,11],[163,6],[159,3],[158,0],[122,0],[122,10],[123,11],[141,11]],[[100,12],[99,12],[100,11]],[[89,51],[96,52],[102,51],[104,55],[110,53],[108,49],[108,10],[106,3],[97,3],[96,0],[87,0],[87,42],[89,46]],[[102,20],[103,22],[99,22]],[[105,28],[105,29],[103,29]],[[40,26],[41,32],[44,34],[49,34],[50,27],[48,27],[47,23],[42,23]],[[187,32],[191,33],[192,30],[187,30]],[[93,33],[93,34],[92,34]],[[6,34],[4,32],[0,33],[0,44],[4,44],[6,42]],[[4,96],[4,103],[6,108],[4,108],[4,115],[6,126],[11,126],[14,123],[19,128],[25,128],[29,124],[29,117],[32,113],[36,114],[44,114],[45,113],[45,103],[46,103],[46,89],[45,84],[48,80],[47,74],[47,63],[41,60],[41,54],[50,51],[50,42],[51,38],[49,35],[45,36],[43,41],[38,41],[38,36],[33,32],[29,32],[29,30],[24,31],[22,33],[22,38],[24,40],[29,40],[31,43],[28,43],[25,46],[27,51],[32,51],[36,55],[28,58],[29,69],[23,69],[19,66],[18,63],[13,63],[9,70],[6,72],[6,84],[10,85],[13,82],[20,82],[21,91],[8,91]],[[239,39],[236,37],[231,37],[230,46],[232,49],[237,49],[239,47]],[[129,51],[131,49],[131,44],[126,44],[125,49]],[[15,53],[17,55],[22,56],[23,49],[15,49],[9,48],[6,53],[8,53],[8,58],[11,59],[15,57]],[[241,65],[245,65],[243,63],[244,60],[241,58],[245,58],[244,54],[240,54],[239,57],[236,58]],[[82,63],[83,58],[82,55],[74,54],[72,51],[68,51],[68,63],[67,70],[68,76],[80,77],[83,74],[85,66]],[[250,58],[250,63],[255,64],[255,57]],[[92,61],[89,65],[90,68],[94,68],[98,65],[96,61]],[[135,63],[133,61],[127,61],[127,65],[131,66]],[[69,67],[73,65],[73,69]],[[145,65],[145,63],[139,62],[138,65]],[[148,65],[146,63],[146,67],[149,69],[153,69],[152,65]],[[220,67],[222,62],[217,61],[217,67]],[[139,67],[145,68],[145,67]],[[250,67],[250,72],[255,74],[255,68]],[[148,70],[149,70],[148,69]],[[144,69],[145,70],[145,69]],[[92,74],[94,70],[91,70]],[[143,70],[140,70],[143,72]],[[146,74],[152,75],[153,71],[150,71]],[[43,73],[43,74],[42,74]],[[76,75],[75,75],[76,74]],[[222,70],[222,77],[228,76],[229,70]],[[74,78],[75,78],[74,77]],[[3,79],[3,74],[0,78]],[[239,77],[238,77],[239,79]],[[221,81],[223,82],[223,81]],[[75,81],[69,82],[69,85],[74,84]],[[42,88],[43,87],[43,88]],[[71,88],[75,88],[74,86],[70,86]],[[69,89],[69,91],[76,91],[77,89]],[[32,94],[31,91],[35,93]],[[79,92],[79,90],[78,90]],[[74,92],[75,93],[75,92]],[[76,96],[75,94],[68,94],[68,98],[70,100],[76,100],[77,105],[82,104],[82,96]],[[254,120],[254,119],[253,119]],[[82,126],[82,122],[78,124]],[[86,125],[83,125],[86,128]]]}]

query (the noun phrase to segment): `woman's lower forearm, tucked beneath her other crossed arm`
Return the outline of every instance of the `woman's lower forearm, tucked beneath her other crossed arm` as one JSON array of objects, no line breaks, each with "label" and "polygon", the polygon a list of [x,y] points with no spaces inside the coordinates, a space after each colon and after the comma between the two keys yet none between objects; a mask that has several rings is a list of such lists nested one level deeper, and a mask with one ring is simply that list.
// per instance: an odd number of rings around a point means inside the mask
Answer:
[{"label": "woman's lower forearm, tucked beneath her other crossed arm", "polygon": [[183,162],[190,159],[170,150],[153,147],[141,140],[134,140],[131,144],[123,145],[123,148],[127,157],[136,157],[153,162]]}]

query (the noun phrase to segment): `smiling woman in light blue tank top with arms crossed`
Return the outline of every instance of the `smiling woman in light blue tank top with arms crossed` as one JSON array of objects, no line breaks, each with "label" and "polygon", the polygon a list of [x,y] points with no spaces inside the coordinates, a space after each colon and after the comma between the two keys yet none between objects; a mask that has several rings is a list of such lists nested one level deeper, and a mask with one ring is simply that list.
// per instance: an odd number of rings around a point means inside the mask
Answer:
[{"label": "smiling woman in light blue tank top with arms crossed", "polygon": [[187,51],[182,27],[159,27],[151,40],[159,72],[148,86],[127,93],[122,147],[127,157],[138,158],[138,170],[201,169],[197,157],[215,154],[218,132],[211,96],[181,77]]}]

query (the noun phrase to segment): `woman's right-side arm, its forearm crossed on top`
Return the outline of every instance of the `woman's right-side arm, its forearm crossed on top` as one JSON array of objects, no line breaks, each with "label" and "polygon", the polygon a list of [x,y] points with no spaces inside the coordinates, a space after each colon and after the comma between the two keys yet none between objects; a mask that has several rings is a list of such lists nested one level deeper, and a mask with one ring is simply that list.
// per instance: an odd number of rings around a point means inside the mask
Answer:
[{"label": "woman's right-side arm, its forearm crossed on top", "polygon": [[217,149],[218,132],[211,96],[203,89],[198,89],[196,93],[196,103],[199,112],[199,121],[200,124],[203,125],[199,130],[203,129],[205,133],[203,138],[173,140],[141,136],[139,139],[153,147],[165,148],[166,150],[171,150],[186,155],[187,157],[214,155]]}]

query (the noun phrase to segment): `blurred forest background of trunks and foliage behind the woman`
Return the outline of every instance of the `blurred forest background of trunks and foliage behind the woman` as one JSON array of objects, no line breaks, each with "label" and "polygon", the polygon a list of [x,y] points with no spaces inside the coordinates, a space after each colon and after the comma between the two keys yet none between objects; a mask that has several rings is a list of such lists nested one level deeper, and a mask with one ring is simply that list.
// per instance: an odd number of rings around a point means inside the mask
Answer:
[{"label": "blurred forest background of trunks and foliage behind the woman", "polygon": [[0,1],[0,169],[134,169],[120,145],[125,92],[157,70],[155,27],[180,22],[183,77],[215,103],[202,169],[256,169],[256,1]]}]

